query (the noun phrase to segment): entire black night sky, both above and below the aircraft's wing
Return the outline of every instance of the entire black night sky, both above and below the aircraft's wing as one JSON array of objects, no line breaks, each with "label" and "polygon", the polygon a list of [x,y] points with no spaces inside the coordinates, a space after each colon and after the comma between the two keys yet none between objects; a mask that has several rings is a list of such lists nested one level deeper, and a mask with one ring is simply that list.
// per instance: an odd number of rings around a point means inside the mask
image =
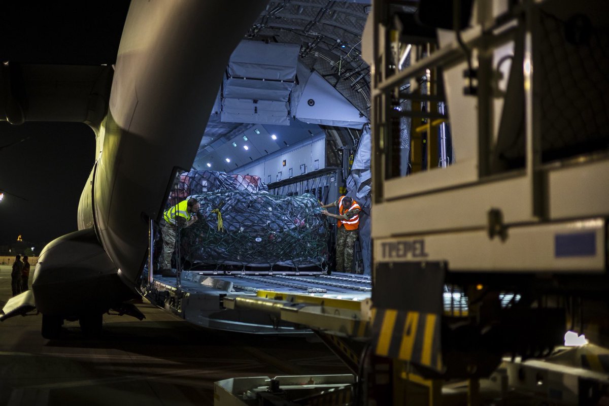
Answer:
[{"label": "entire black night sky, both above and below the aircraft's wing", "polygon": [[[116,61],[127,0],[0,4],[1,61]],[[80,192],[94,163],[95,137],[85,124],[0,121],[0,147],[24,138],[0,149],[0,191],[5,192],[0,202],[0,244],[14,242],[19,234],[38,244],[76,231]]]}]

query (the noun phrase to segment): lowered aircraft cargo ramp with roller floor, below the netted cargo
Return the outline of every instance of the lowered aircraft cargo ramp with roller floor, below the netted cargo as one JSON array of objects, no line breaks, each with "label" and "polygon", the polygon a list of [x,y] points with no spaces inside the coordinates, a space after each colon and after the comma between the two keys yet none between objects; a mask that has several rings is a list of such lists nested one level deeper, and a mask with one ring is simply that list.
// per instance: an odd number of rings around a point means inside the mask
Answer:
[{"label": "lowered aircraft cargo ramp with roller floor, below the netted cargo", "polygon": [[175,277],[153,275],[152,282],[143,285],[143,289],[151,303],[203,327],[258,334],[303,334],[309,330],[275,320],[256,309],[227,309],[224,298],[256,298],[272,292],[357,303],[370,298],[371,278],[347,273],[182,271],[179,283]]}]

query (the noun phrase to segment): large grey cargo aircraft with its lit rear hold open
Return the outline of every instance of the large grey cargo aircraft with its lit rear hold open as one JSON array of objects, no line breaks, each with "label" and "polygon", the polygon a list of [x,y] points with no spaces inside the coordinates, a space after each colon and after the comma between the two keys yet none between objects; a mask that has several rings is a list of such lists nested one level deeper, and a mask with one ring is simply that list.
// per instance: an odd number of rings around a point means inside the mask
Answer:
[{"label": "large grey cargo aircraft with its lit rear hold open", "polygon": [[[116,63],[3,61],[0,119],[83,122],[95,134],[96,152],[80,197],[78,231],[41,251],[32,290],[10,299],[2,320],[36,309],[43,336],[55,338],[64,320],[79,320],[85,334],[98,334],[111,309],[142,318],[128,301],[146,293],[150,224],[161,219],[176,173],[212,164],[230,172],[302,142],[273,136],[269,147],[261,144],[229,166],[219,150],[233,148],[230,137],[244,138],[247,131],[269,139],[280,126],[308,138],[328,133],[320,125],[360,131],[368,121],[370,71],[360,42],[370,3],[326,3],[133,0]],[[279,96],[273,100],[273,94]],[[306,102],[292,111],[298,100]],[[337,140],[350,138],[336,149],[348,151],[359,136],[333,131]],[[342,167],[343,158],[335,166]],[[163,297],[157,304],[164,306]]]}]

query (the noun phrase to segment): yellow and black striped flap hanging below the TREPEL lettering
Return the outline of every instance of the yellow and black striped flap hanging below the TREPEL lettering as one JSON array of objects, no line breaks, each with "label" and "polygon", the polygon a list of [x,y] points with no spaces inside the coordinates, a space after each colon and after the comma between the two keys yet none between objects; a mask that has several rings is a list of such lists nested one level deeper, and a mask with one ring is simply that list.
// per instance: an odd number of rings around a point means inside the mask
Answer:
[{"label": "yellow and black striped flap hanging below the TREPEL lettering", "polygon": [[371,316],[376,355],[442,369],[440,315],[373,308]]}]

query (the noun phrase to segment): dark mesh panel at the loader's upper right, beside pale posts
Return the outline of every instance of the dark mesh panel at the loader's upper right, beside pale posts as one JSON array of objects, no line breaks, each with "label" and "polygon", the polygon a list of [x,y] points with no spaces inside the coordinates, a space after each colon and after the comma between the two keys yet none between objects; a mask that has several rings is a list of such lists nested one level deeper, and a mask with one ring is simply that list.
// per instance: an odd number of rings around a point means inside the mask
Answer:
[{"label": "dark mesh panel at the loader's upper right, beside pale posts", "polygon": [[609,35],[585,16],[541,13],[543,161],[609,147]]}]

